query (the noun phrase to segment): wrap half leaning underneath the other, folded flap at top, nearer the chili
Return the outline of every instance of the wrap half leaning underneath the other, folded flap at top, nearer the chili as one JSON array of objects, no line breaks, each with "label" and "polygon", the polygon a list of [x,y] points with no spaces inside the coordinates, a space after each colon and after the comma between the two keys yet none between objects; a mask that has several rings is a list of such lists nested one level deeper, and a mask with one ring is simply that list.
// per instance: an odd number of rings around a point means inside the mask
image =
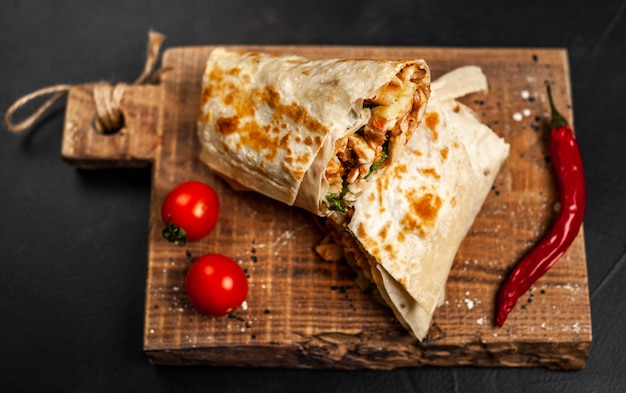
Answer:
[{"label": "wrap half leaning underneath the other, folded flap at top, nearer the chili", "polygon": [[454,70],[431,87],[424,121],[402,154],[367,185],[351,217],[327,220],[348,262],[375,284],[419,340],[444,300],[454,257],[509,154],[509,145],[455,100],[487,90],[480,68]]}]

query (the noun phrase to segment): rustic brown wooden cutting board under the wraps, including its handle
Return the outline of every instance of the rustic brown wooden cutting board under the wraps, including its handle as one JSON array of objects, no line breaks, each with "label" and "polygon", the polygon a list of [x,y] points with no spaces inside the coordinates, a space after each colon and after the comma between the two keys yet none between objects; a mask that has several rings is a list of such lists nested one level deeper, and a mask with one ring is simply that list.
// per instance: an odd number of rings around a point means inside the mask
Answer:
[{"label": "rustic brown wooden cutting board under the wraps, including its handle", "polygon": [[[229,188],[198,160],[200,78],[212,47],[172,48],[159,85],[131,86],[125,127],[94,131],[92,86],[71,90],[63,157],[87,168],[153,166],[143,347],[159,364],[392,369],[421,365],[545,366],[581,369],[591,345],[583,233],[518,302],[506,324],[494,303],[507,271],[554,218],[557,195],[547,148],[550,80],[557,106],[572,120],[567,52],[562,49],[237,46],[309,58],[423,58],[433,79],[463,65],[482,67],[490,90],[462,101],[511,144],[511,154],[456,256],[445,304],[418,343],[390,310],[357,288],[343,263],[316,256],[324,233],[309,213]],[[185,180],[212,185],[222,203],[207,239],[185,247],[161,237],[160,205]],[[249,276],[244,305],[209,318],[184,288],[195,257],[217,252]],[[137,261],[144,263],[144,261]]]}]

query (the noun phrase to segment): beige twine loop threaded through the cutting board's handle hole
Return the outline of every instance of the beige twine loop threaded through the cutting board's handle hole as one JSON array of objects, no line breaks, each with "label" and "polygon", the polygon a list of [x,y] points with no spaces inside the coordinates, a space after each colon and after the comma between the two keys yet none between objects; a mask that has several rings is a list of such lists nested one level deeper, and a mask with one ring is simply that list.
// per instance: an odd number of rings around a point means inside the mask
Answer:
[{"label": "beige twine loop threaded through the cutting board's handle hole", "polygon": [[[132,85],[141,85],[146,83],[157,83],[163,72],[167,69],[161,68],[153,72],[159,58],[159,50],[161,44],[165,40],[165,36],[161,33],[150,31],[148,36],[148,55],[144,65],[143,72]],[[108,82],[100,81],[94,84],[93,99],[96,104],[96,117],[94,119],[94,127],[96,130],[107,133],[119,130],[124,125],[124,115],[120,109],[124,93],[130,85],[126,83],[117,83],[111,85]],[[7,109],[4,116],[4,122],[7,129],[11,132],[20,132],[31,127],[56,101],[65,96],[72,85],[59,84],[36,90],[19,98]],[[21,122],[14,123],[12,118],[21,107],[30,101],[52,94],[48,100],[41,104],[30,116]]]}]

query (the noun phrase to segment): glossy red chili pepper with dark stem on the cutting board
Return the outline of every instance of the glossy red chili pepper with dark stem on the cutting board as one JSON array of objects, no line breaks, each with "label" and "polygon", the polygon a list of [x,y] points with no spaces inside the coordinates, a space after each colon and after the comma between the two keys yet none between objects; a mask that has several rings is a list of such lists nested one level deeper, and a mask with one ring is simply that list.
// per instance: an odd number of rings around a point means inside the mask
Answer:
[{"label": "glossy red chili pepper with dark stem on the cutting board", "polygon": [[502,326],[509,312],[530,287],[567,251],[583,222],[587,200],[578,142],[567,120],[556,110],[546,81],[552,118],[550,154],[556,172],[561,207],[550,231],[515,266],[498,295],[496,323]]}]

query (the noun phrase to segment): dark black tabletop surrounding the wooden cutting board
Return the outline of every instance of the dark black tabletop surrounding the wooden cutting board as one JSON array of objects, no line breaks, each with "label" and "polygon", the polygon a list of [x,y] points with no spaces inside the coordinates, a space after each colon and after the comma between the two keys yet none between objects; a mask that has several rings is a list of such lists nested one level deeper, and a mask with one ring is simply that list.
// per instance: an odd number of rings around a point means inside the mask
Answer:
[{"label": "dark black tabletop surrounding the wooden cutting board", "polygon": [[626,3],[568,1],[43,1],[0,6],[0,112],[57,83],[131,82],[147,32],[166,47],[345,44],[564,47],[589,200],[594,341],[580,372],[164,367],[142,352],[150,169],[60,159],[63,102],[0,130],[4,392],[623,392],[626,353]]}]

